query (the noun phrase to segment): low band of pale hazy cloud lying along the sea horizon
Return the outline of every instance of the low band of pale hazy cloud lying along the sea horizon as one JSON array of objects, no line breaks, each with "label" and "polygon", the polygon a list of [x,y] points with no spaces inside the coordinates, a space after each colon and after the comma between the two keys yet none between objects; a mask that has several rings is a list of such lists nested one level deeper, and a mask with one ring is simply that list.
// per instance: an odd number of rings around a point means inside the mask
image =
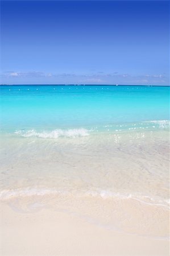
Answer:
[{"label": "low band of pale hazy cloud lying along the sea horizon", "polygon": [[96,71],[91,73],[57,73],[54,72],[19,72],[5,71],[1,73],[1,83],[27,84],[36,83],[53,83],[53,84],[169,84],[168,77],[163,74],[143,74],[133,75],[130,73]]}]

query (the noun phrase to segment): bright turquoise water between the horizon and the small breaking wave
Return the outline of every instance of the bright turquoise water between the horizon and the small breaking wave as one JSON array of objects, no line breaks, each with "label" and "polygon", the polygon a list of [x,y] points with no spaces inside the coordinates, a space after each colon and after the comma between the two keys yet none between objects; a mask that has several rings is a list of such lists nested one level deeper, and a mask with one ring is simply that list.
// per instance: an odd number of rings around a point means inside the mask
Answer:
[{"label": "bright turquoise water between the horizon and the small breaking wave", "polygon": [[97,127],[169,119],[169,87],[5,85],[1,131]]}]

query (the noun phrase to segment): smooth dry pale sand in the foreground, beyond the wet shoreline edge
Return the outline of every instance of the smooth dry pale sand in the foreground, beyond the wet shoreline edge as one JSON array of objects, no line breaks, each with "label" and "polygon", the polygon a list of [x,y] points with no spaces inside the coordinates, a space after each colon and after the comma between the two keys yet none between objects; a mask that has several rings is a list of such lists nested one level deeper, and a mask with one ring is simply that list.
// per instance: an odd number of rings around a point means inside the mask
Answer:
[{"label": "smooth dry pale sand in the foreground, beyond the wet shoreline edge", "polygon": [[169,255],[169,242],[163,238],[118,232],[68,212],[47,208],[17,212],[1,202],[0,252],[2,256],[163,256]]}]

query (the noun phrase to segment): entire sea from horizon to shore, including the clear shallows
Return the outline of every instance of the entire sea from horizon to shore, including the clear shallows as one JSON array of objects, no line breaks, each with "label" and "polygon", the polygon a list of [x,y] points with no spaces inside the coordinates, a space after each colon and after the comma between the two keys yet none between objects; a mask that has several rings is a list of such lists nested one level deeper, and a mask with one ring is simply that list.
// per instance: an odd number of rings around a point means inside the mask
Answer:
[{"label": "entire sea from horizon to shore, including the clear shallows", "polygon": [[1,192],[169,203],[169,86],[2,85]]}]

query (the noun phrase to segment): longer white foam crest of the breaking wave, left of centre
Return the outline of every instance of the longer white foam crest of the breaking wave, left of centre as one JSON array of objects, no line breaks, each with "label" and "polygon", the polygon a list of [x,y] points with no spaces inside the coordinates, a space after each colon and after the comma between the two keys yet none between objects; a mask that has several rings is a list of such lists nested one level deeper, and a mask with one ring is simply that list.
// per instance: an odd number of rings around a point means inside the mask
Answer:
[{"label": "longer white foam crest of the breaking wave, left of centre", "polygon": [[15,134],[18,134],[22,137],[38,137],[38,138],[59,138],[59,137],[69,137],[69,138],[75,138],[75,137],[85,137],[89,135],[88,130],[86,129],[68,129],[68,130],[62,130],[62,129],[56,129],[53,131],[42,131],[38,132],[36,130],[28,130],[28,131],[15,131]]}]

